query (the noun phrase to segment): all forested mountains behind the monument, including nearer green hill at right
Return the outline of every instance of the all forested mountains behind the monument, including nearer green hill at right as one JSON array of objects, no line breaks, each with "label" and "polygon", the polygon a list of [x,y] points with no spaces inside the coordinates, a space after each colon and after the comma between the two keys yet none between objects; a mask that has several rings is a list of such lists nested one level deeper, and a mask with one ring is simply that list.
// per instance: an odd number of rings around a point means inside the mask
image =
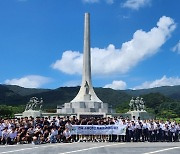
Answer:
[{"label": "all forested mountains behind the monument, including nearer green hill at right", "polygon": [[[19,86],[0,85],[0,105],[24,105],[33,96],[43,98],[44,109],[71,101],[80,87],[61,87],[57,89],[32,89]],[[127,112],[132,96],[141,96],[149,112],[158,116],[180,117],[180,86],[158,87],[142,90],[113,90],[95,88],[97,96],[118,112]]]}]

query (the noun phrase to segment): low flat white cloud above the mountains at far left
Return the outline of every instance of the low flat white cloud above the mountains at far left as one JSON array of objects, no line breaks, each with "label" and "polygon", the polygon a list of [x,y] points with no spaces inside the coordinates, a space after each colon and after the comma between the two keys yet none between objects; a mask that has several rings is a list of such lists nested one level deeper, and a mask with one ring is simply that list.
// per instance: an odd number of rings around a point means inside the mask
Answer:
[{"label": "low flat white cloud above the mountains at far left", "polygon": [[39,75],[28,75],[22,78],[7,79],[5,84],[18,85],[25,88],[40,88],[43,84],[50,82],[51,79]]}]

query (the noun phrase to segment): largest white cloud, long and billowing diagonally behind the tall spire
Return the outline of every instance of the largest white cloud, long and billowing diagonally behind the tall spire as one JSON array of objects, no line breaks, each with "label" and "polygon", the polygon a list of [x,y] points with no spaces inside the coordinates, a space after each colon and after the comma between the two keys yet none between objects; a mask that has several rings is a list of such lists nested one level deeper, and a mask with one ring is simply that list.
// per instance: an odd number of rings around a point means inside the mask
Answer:
[{"label": "largest white cloud, long and billowing diagonally behind the tall spire", "polygon": [[[107,48],[91,48],[92,73],[96,75],[123,74],[140,61],[156,54],[167,41],[176,24],[170,17],[163,16],[157,27],[150,31],[137,30],[133,38],[116,49],[113,44]],[[83,54],[77,51],[65,51],[52,68],[67,74],[81,74]]]}]

